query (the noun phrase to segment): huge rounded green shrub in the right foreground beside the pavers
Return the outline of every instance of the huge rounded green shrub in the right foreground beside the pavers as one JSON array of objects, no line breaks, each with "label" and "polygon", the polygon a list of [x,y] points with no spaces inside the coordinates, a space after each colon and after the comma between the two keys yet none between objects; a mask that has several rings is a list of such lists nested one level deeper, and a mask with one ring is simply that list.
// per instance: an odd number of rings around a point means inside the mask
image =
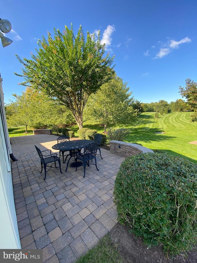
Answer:
[{"label": "huge rounded green shrub in the right foreground beside the pavers", "polygon": [[114,187],[119,222],[147,245],[179,254],[197,244],[197,165],[161,153],[126,158]]}]

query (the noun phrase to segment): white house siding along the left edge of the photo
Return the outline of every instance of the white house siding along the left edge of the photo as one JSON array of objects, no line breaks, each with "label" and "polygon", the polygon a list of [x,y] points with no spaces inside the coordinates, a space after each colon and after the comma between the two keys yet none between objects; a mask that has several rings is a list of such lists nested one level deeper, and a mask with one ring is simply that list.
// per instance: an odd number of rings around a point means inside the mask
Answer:
[{"label": "white house siding along the left edge of the photo", "polygon": [[0,249],[20,249],[1,83],[0,78]]}]

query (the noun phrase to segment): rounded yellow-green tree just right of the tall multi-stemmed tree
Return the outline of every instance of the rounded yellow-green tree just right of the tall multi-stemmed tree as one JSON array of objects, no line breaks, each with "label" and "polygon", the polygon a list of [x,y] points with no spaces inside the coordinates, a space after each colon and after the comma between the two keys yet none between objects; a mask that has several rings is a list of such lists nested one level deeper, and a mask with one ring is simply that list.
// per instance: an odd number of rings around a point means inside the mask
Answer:
[{"label": "rounded yellow-green tree just right of the tall multi-stemmed tree", "polygon": [[87,120],[98,121],[104,125],[112,123],[130,124],[138,116],[138,110],[134,110],[127,83],[114,74],[113,79],[92,94],[85,107],[84,116]]}]

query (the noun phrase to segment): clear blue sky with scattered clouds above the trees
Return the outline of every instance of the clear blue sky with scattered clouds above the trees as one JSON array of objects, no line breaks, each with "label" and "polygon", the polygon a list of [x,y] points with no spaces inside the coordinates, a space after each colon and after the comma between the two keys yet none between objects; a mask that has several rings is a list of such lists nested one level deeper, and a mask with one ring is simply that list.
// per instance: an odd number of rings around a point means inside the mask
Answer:
[{"label": "clear blue sky with scattered clouds above the trees", "polygon": [[106,51],[115,55],[117,76],[141,102],[175,101],[187,78],[197,81],[196,0],[0,0],[0,10],[12,24],[6,37],[13,40],[0,47],[5,103],[25,90],[14,75],[22,66],[15,54],[31,58],[38,39],[71,23],[75,34],[80,25],[85,34],[100,30]]}]

